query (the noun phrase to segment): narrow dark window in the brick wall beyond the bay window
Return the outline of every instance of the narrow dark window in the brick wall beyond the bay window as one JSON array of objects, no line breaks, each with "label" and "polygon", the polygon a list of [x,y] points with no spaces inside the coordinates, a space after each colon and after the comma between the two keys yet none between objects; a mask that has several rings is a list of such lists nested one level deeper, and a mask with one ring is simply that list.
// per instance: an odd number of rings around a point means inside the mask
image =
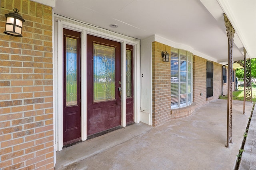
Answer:
[{"label": "narrow dark window in the brick wall beyond the bay window", "polygon": [[206,98],[213,96],[213,63],[206,62]]}]

